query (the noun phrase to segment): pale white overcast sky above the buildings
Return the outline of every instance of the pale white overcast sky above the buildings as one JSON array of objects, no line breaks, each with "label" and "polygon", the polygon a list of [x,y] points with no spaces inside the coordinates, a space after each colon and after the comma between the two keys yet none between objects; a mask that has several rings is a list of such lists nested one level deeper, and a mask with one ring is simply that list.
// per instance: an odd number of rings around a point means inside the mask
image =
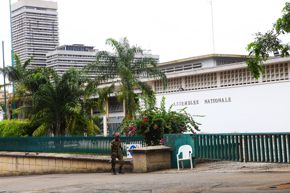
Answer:
[{"label": "pale white overcast sky above the buildings", "polygon": [[[206,0],[53,1],[58,3],[60,45],[85,44],[111,51],[105,46],[106,38],[127,37],[130,45],[160,55],[161,63],[214,53],[211,5]],[[284,6],[282,0],[214,0],[215,53],[247,55],[245,47],[253,41],[252,34],[270,30]],[[9,13],[9,0],[1,0],[5,65],[11,65]],[[290,42],[289,36],[282,40]]]}]

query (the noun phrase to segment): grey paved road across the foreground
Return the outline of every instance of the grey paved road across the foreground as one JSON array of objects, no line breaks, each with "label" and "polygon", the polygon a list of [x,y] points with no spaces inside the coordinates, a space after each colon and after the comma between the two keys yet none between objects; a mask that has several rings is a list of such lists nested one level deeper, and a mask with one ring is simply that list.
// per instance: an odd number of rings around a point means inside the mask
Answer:
[{"label": "grey paved road across the foreground", "polygon": [[0,177],[0,192],[290,192],[285,188],[263,190],[284,183],[290,183],[290,172],[80,173]]}]

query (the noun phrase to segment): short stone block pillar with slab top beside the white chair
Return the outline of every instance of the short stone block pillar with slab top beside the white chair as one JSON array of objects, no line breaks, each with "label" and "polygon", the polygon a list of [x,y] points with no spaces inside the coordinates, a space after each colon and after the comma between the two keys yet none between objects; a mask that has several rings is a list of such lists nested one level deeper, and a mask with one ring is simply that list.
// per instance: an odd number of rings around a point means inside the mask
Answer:
[{"label": "short stone block pillar with slab top beside the white chair", "polygon": [[171,168],[171,147],[148,146],[128,151],[133,152],[133,172],[153,172]]}]

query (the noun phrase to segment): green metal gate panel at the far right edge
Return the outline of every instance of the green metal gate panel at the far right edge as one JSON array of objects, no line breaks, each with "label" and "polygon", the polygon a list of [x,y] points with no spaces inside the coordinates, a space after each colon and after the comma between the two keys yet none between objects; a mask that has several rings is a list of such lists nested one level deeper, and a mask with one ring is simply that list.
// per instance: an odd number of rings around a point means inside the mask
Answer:
[{"label": "green metal gate panel at the far right edge", "polygon": [[245,161],[290,163],[290,134],[244,135]]}]

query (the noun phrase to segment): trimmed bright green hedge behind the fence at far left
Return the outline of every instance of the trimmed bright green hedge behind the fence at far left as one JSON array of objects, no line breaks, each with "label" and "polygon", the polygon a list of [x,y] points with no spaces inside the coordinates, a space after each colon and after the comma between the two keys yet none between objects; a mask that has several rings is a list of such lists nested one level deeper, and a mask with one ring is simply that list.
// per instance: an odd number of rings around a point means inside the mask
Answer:
[{"label": "trimmed bright green hedge behind the fence at far left", "polygon": [[0,121],[0,137],[27,137],[31,136],[35,129],[36,127],[31,128],[27,121]]}]

